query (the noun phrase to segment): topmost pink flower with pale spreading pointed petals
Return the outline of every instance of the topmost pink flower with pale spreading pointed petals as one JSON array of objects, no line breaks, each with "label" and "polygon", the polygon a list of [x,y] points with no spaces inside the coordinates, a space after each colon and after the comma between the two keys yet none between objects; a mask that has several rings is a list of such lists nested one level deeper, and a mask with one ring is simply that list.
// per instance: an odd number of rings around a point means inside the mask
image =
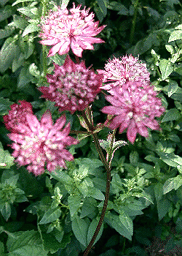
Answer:
[{"label": "topmost pink flower with pale spreading pointed petals", "polygon": [[93,50],[94,43],[104,42],[100,38],[95,38],[105,26],[98,28],[98,21],[94,22],[94,14],[90,9],[80,10],[81,5],[71,10],[57,11],[50,10],[47,17],[41,18],[41,30],[39,37],[42,37],[42,45],[54,45],[48,54],[48,57],[55,53],[60,55],[68,53],[71,50],[76,56],[82,57],[84,49]]}]

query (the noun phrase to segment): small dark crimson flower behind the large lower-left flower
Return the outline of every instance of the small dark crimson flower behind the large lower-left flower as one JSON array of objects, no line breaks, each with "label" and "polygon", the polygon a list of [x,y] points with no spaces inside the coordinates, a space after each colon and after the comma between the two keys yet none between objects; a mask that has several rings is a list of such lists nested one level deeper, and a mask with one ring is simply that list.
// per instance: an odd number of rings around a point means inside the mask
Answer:
[{"label": "small dark crimson flower behind the large lower-left flower", "polygon": [[9,113],[3,116],[5,127],[7,127],[10,132],[15,132],[17,125],[20,123],[28,125],[26,114],[33,113],[30,102],[18,100],[18,103],[12,104],[10,108]]}]

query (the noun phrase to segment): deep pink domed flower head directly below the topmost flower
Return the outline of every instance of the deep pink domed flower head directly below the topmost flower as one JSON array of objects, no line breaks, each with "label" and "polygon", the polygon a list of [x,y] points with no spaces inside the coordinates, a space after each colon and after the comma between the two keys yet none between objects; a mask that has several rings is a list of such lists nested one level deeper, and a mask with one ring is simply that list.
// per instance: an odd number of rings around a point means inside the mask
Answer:
[{"label": "deep pink domed flower head directly below the topmost flower", "polygon": [[55,102],[60,111],[84,110],[100,92],[102,75],[85,67],[84,61],[75,64],[69,56],[63,66],[55,64],[53,75],[47,75],[49,87],[41,86],[41,97]]}]

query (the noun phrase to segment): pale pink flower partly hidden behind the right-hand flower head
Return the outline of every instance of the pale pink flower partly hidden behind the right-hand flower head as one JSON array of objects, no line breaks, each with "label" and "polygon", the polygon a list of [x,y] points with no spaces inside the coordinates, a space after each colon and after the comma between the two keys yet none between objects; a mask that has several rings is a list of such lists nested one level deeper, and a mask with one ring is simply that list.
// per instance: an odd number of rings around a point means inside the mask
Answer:
[{"label": "pale pink flower partly hidden behind the right-hand flower head", "polygon": [[139,61],[138,58],[130,56],[123,56],[122,59],[114,57],[109,59],[104,67],[105,70],[98,69],[99,74],[103,74],[102,87],[107,91],[115,86],[122,86],[127,82],[141,82],[140,85],[148,86],[150,73],[146,69],[146,64]]}]

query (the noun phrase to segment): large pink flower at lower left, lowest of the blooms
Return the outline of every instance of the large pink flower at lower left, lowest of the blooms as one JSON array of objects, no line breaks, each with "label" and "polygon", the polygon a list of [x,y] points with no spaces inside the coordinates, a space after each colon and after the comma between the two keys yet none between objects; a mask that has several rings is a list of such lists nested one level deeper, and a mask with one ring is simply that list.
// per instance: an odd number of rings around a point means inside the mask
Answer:
[{"label": "large pink flower at lower left, lowest of the blooms", "polygon": [[78,143],[76,139],[68,136],[70,124],[66,124],[66,116],[60,116],[52,124],[50,111],[43,114],[41,121],[28,113],[26,121],[28,125],[17,124],[17,132],[8,135],[10,140],[15,141],[12,143],[15,150],[12,156],[17,158],[15,162],[20,166],[28,165],[28,171],[36,176],[44,173],[45,163],[50,172],[57,166],[66,168],[65,161],[74,159],[66,146]]}]

